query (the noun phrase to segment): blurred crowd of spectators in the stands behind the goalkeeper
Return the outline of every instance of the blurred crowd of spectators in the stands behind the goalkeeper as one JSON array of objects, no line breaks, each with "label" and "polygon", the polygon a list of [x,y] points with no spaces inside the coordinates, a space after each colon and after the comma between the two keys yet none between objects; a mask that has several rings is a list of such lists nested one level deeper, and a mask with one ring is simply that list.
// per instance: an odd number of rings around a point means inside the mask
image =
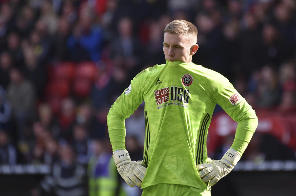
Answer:
[{"label": "blurred crowd of spectators in the stands behind the goalkeeper", "polygon": [[[0,164],[85,166],[110,154],[107,112],[138,72],[165,63],[173,19],[198,28],[193,62],[255,110],[295,113],[295,13],[294,0],[1,0]],[[126,120],[133,159],[143,157],[143,108]]]}]

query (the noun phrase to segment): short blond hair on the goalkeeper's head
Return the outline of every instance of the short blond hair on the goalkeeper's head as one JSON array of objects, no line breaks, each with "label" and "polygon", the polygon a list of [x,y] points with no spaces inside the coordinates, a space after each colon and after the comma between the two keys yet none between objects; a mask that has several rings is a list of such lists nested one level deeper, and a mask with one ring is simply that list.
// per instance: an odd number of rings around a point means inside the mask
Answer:
[{"label": "short blond hair on the goalkeeper's head", "polygon": [[196,35],[197,28],[194,24],[186,20],[174,20],[165,26],[165,33],[177,35]]}]

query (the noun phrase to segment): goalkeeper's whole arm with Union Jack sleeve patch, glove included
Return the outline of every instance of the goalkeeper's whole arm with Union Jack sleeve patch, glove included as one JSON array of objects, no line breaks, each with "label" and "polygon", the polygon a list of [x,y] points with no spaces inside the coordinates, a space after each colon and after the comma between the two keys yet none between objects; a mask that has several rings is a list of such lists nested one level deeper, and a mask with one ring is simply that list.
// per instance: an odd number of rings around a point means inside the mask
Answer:
[{"label": "goalkeeper's whole arm with Union Jack sleeve patch, glove included", "polygon": [[204,182],[209,181],[211,186],[234,168],[258,125],[255,111],[233,88],[232,84],[223,76],[220,76],[218,81],[212,83],[215,85],[212,86],[214,91],[210,92],[210,96],[233,120],[238,122],[238,126],[234,142],[221,160],[212,160],[210,163],[197,165],[197,169],[201,170],[198,172],[199,176]]}]

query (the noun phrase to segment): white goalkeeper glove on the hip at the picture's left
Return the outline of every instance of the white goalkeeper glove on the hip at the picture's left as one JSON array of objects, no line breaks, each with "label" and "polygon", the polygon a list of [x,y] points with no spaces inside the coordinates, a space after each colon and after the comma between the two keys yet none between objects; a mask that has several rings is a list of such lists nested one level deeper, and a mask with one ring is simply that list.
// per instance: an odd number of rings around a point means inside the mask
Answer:
[{"label": "white goalkeeper glove on the hip at the picture's left", "polygon": [[146,173],[146,167],[143,167],[144,161],[131,161],[130,155],[127,150],[119,150],[113,154],[113,159],[117,171],[130,186],[141,186]]}]

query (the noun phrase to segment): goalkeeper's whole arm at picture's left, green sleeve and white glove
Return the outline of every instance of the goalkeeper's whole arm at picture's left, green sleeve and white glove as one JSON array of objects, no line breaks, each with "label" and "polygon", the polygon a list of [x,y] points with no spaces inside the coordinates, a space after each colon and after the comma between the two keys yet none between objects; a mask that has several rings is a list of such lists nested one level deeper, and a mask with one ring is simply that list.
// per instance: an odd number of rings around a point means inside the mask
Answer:
[{"label": "goalkeeper's whole arm at picture's left, green sleeve and white glove", "polygon": [[[142,72],[141,72],[142,73]],[[125,150],[125,124],[135,109],[144,100],[145,74],[138,74],[131,85],[119,96],[111,106],[107,116],[108,132],[113,149],[113,159],[119,174],[131,187],[141,186],[146,168],[135,161],[131,161],[129,153]]]}]

